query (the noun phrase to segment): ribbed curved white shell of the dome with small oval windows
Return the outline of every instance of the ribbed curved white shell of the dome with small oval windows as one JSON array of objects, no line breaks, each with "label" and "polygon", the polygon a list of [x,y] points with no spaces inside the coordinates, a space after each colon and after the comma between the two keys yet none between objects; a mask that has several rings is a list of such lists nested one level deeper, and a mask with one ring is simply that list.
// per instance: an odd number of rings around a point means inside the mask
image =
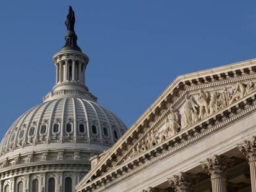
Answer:
[{"label": "ribbed curved white shell of the dome with small oval windows", "polygon": [[1,142],[1,155],[43,143],[111,146],[127,130],[122,121],[96,102],[61,98],[43,102],[17,119]]}]

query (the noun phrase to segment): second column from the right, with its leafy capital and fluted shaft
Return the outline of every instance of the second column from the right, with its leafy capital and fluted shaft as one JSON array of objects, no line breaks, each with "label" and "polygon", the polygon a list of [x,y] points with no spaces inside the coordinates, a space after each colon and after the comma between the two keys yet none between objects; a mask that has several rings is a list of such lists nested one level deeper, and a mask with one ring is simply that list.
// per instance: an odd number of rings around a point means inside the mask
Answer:
[{"label": "second column from the right, with its leafy capital and fluted shaft", "polygon": [[232,159],[217,155],[202,163],[203,169],[211,176],[211,188],[213,192],[227,191],[227,169],[232,165]]}]

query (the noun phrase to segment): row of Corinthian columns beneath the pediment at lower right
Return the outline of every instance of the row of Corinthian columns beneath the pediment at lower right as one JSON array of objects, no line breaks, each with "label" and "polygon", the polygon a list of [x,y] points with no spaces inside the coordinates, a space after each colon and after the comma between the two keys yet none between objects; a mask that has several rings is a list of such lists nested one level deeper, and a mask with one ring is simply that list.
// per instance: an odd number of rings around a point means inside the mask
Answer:
[{"label": "row of Corinthian columns beneath the pediment at lower right", "polygon": [[[244,143],[238,145],[239,150],[245,155],[250,165],[250,183],[252,192],[256,192],[256,136],[252,140],[246,140]],[[201,163],[203,170],[211,177],[211,191],[212,192],[226,192],[227,191],[227,170],[232,167],[233,159],[224,156],[213,156],[207,161]],[[174,188],[176,192],[192,191],[192,184],[196,183],[196,175],[191,173],[180,172],[174,175],[173,178],[168,178],[169,185]],[[143,192],[160,192],[155,188],[147,188]]]}]

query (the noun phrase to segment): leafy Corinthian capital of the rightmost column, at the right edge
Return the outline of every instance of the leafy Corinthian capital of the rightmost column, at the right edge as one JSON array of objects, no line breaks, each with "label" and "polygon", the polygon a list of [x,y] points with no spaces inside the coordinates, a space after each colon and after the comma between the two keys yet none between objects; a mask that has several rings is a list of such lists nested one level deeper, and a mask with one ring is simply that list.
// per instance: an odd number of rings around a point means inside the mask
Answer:
[{"label": "leafy Corinthian capital of the rightmost column, at the right edge", "polygon": [[244,154],[249,162],[256,161],[256,136],[251,140],[245,140],[244,143],[239,144],[238,149]]}]

